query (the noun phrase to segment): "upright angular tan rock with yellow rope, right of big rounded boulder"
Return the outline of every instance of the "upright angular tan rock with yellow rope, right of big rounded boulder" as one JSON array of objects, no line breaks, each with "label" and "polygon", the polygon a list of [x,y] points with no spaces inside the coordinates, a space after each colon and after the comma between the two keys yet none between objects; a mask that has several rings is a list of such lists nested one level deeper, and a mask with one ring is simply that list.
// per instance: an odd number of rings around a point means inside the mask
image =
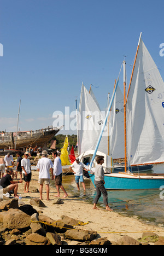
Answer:
[{"label": "upright angular tan rock with yellow rope, right of big rounded boulder", "polygon": [[30,228],[33,233],[38,233],[39,235],[46,236],[46,231],[42,227],[42,224],[39,223],[38,213],[34,213],[31,216]]}]

